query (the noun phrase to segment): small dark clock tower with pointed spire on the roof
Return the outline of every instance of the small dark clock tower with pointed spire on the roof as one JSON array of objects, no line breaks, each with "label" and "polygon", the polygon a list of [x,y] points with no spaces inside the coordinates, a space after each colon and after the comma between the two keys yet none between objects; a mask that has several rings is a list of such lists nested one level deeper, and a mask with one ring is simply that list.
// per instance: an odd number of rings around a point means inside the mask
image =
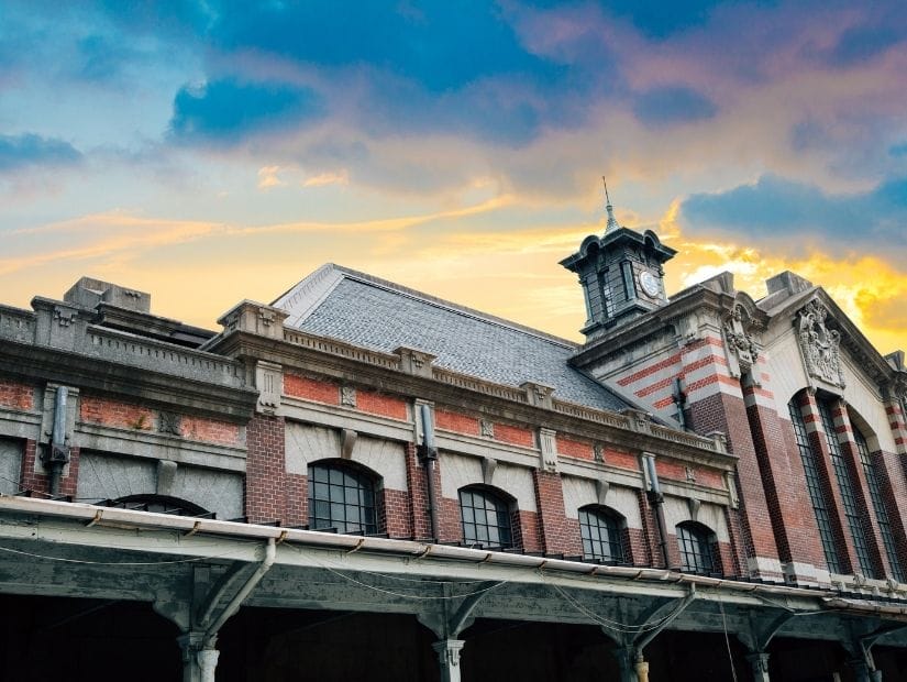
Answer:
[{"label": "small dark clock tower with pointed spire on the roof", "polygon": [[663,265],[677,253],[662,244],[652,230],[640,233],[620,227],[607,185],[605,199],[605,234],[590,234],[578,252],[561,261],[561,265],[579,275],[587,316],[580,331],[587,342],[667,304]]}]

